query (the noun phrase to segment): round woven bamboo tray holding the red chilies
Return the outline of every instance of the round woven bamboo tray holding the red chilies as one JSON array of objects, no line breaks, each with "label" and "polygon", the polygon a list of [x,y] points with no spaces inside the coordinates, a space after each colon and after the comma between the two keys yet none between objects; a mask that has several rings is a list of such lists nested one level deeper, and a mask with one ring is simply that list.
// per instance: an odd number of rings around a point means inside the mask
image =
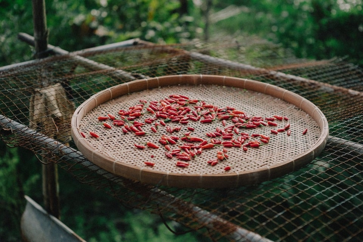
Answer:
[{"label": "round woven bamboo tray holding the red chilies", "polygon": [[[223,146],[203,149],[200,155],[188,161],[190,165],[185,168],[176,166],[176,157],[170,159],[165,156],[167,150],[158,143],[160,137],[174,135],[181,138],[183,133],[188,132],[187,127],[193,127],[195,131],[190,136],[210,141],[211,138],[206,134],[215,131],[216,127],[224,129],[231,126],[234,124],[231,119],[226,120],[226,126],[218,119],[212,123],[191,120],[188,124],[169,122],[166,126],[170,129],[181,127],[180,132],[170,134],[169,129],[162,125],[158,126],[157,133],[151,131],[155,122],[160,123],[162,120],[158,118],[152,124],[146,123],[142,126],[142,130],[148,133],[143,136],[136,136],[133,132],[124,134],[122,126],[113,126],[111,120],[98,120],[99,116],[107,114],[119,118],[120,110],[129,110],[129,107],[140,104],[140,100],[159,102],[172,94],[205,101],[216,107],[233,107],[244,111],[249,117],[279,115],[286,116],[288,120],[274,121],[278,124],[277,127],[239,129],[240,132],[248,133],[250,140],[259,138],[252,138],[252,134],[269,136],[270,140],[266,145],[248,147],[247,151],[243,147],[225,148],[228,159],[220,160],[213,166],[207,161],[216,159],[217,152],[222,151]],[[148,117],[155,118],[155,114],[144,112],[145,107],[143,115],[135,120],[144,122]],[[191,105],[191,108],[195,109],[195,106]],[[104,127],[103,122],[111,124],[112,128]],[[290,135],[287,135],[287,131],[277,135],[270,132],[271,129],[284,128],[287,123],[290,124]],[[305,129],[307,132],[303,134]],[[99,138],[91,136],[90,131],[96,132]],[[325,116],[307,99],[270,84],[215,75],[175,75],[123,83],[93,95],[77,108],[72,117],[74,142],[91,162],[128,179],[176,187],[227,188],[256,184],[286,175],[306,165],[321,153],[328,133]],[[236,134],[234,138],[237,136]],[[134,146],[148,141],[158,144],[159,148],[138,149]],[[175,149],[180,144],[183,141],[177,140],[177,144],[170,146]],[[145,161],[151,161],[155,165],[151,167],[144,164]],[[226,166],[231,169],[225,171]]]}]

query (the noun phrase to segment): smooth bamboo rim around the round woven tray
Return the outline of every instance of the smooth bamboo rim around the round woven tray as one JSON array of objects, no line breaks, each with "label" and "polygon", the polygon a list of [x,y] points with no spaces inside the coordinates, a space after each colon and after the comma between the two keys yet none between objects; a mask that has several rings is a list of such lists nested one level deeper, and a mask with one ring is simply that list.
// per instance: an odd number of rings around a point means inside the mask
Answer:
[{"label": "smooth bamboo rim around the round woven tray", "polygon": [[[253,171],[236,172],[232,171],[226,174],[177,174],[164,173],[148,169],[147,167],[136,167],[135,165],[116,162],[113,158],[95,150],[92,151],[90,145],[85,141],[78,131],[79,123],[82,118],[93,108],[98,105],[117,98],[121,95],[132,94],[134,92],[147,89],[154,89],[164,86],[175,85],[220,85],[238,87],[246,90],[257,91],[275,98],[279,98],[287,103],[293,104],[310,115],[317,122],[321,129],[318,140],[310,149],[293,159],[287,159],[279,163],[269,165],[264,168],[257,168]],[[263,90],[263,91],[261,91]],[[115,175],[125,177],[140,182],[150,184],[167,185],[175,187],[191,188],[227,188],[242,185],[257,184],[262,181],[271,180],[287,173],[298,170],[299,168],[310,163],[325,148],[329,136],[329,126],[325,115],[312,102],[295,94],[291,91],[271,85],[269,83],[259,82],[251,79],[227,77],[220,75],[202,75],[202,74],[181,74],[167,75],[162,77],[139,79],[131,82],[122,83],[113,87],[102,90],[79,105],[74,112],[71,120],[71,133],[73,140],[81,153],[93,164]],[[183,179],[187,177],[188,179]],[[217,181],[217,182],[216,182]]]}]

